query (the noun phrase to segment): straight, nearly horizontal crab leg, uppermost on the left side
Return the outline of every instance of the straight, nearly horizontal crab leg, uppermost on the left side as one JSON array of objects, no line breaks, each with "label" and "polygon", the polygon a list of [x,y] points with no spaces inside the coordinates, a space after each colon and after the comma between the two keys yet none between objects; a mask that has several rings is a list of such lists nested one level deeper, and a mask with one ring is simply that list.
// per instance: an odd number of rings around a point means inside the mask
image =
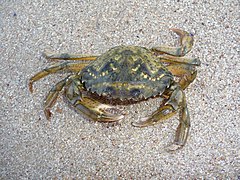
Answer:
[{"label": "straight, nearly horizontal crab leg, uppermost on the left side", "polygon": [[43,56],[47,59],[57,60],[80,60],[80,61],[92,61],[96,60],[99,55],[90,54],[69,54],[69,53],[49,53],[44,52]]}]

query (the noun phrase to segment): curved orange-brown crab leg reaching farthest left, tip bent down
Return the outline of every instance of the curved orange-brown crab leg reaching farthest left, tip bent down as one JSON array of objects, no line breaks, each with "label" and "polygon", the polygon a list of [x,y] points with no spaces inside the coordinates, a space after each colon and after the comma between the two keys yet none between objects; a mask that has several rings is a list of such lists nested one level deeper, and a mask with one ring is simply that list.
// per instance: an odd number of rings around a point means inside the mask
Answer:
[{"label": "curved orange-brown crab leg reaching farthest left, tip bent down", "polygon": [[49,74],[53,74],[59,71],[70,71],[70,72],[78,72],[82,68],[84,68],[87,63],[70,63],[70,62],[64,62],[58,65],[53,65],[48,68],[43,69],[42,71],[35,74],[33,77],[30,78],[28,87],[30,92],[33,92],[32,84],[39,79],[44,78],[45,76],[48,76]]}]

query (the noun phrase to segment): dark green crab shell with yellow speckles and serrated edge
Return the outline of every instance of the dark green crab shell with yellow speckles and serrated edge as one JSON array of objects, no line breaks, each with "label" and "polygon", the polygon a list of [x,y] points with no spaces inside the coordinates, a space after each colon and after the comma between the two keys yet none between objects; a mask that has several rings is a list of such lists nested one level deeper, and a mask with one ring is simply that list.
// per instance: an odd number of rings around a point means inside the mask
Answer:
[{"label": "dark green crab shell with yellow speckles and serrated edge", "polygon": [[140,100],[162,94],[173,76],[152,51],[138,46],[117,46],[81,72],[85,88],[113,99]]}]

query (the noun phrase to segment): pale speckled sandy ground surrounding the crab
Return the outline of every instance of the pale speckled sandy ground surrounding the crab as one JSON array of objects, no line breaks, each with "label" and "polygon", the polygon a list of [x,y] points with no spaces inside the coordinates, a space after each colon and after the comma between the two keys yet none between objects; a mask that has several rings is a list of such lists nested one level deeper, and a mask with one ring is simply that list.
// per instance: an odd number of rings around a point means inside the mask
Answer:
[{"label": "pale speckled sandy ground surrounding the crab", "polygon": [[[1,179],[239,179],[239,1],[0,2]],[[168,153],[178,116],[148,128],[132,121],[160,99],[124,106],[117,124],[87,120],[59,98],[48,122],[43,100],[66,74],[34,84],[49,63],[41,53],[101,54],[120,45],[177,45],[175,27],[195,35],[188,57],[198,77],[185,91],[191,114],[186,146]]]}]

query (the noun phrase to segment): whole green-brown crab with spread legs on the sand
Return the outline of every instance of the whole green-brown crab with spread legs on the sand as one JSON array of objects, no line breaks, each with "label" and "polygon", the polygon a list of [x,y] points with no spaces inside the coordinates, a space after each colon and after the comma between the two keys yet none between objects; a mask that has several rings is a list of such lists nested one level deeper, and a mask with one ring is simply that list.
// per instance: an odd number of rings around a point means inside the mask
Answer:
[{"label": "whole green-brown crab with spread legs on the sand", "polygon": [[159,46],[148,49],[140,46],[117,46],[102,55],[45,53],[47,59],[75,61],[63,62],[38,72],[30,78],[29,90],[33,92],[33,83],[47,75],[61,71],[72,72],[48,93],[44,102],[44,113],[48,120],[51,117],[50,109],[62,90],[67,102],[77,112],[101,122],[118,121],[124,114],[114,113],[113,105],[102,103],[89,93],[109,100],[135,102],[162,97],[160,107],[152,115],[133,122],[132,125],[154,125],[179,112],[175,139],[166,149],[180,149],[186,144],[190,129],[183,90],[196,78],[195,67],[200,65],[200,60],[183,57],[193,46],[193,35],[180,29],[171,30],[180,37],[178,47]]}]

